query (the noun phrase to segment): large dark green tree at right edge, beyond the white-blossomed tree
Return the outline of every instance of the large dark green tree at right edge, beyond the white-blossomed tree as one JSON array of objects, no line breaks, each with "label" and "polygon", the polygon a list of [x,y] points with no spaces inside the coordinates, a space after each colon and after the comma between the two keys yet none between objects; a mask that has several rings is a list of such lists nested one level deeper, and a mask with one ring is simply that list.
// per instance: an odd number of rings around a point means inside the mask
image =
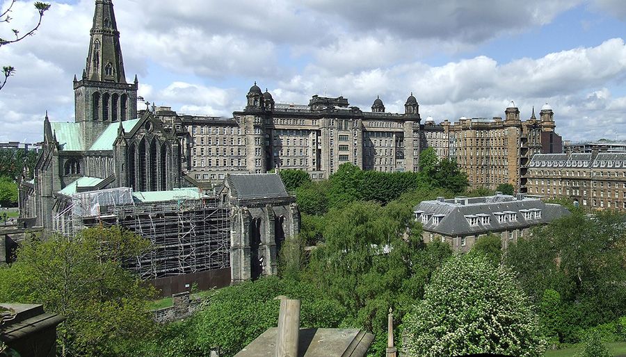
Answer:
[{"label": "large dark green tree at right edge, beyond the white-blossomed tree", "polygon": [[578,342],[579,329],[626,314],[626,234],[623,215],[573,213],[508,247],[505,262],[539,303],[545,290],[563,301],[560,342]]}]

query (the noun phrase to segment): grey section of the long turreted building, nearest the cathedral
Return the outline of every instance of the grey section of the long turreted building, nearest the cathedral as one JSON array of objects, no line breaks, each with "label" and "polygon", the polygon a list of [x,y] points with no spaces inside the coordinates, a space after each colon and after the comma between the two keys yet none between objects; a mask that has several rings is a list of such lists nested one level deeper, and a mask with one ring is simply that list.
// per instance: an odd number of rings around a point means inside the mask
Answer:
[{"label": "grey section of the long turreted building, nearest the cathedral", "polygon": [[[170,115],[169,108],[157,117]],[[163,112],[163,113],[161,113]],[[313,96],[309,105],[276,104],[256,85],[247,106],[230,119],[181,115],[191,133],[188,176],[222,181],[227,172],[263,173],[280,167],[328,178],[342,163],[381,172],[417,171],[419,105],[410,95],[405,113],[385,113],[380,98],[371,112],[344,97]]]}]

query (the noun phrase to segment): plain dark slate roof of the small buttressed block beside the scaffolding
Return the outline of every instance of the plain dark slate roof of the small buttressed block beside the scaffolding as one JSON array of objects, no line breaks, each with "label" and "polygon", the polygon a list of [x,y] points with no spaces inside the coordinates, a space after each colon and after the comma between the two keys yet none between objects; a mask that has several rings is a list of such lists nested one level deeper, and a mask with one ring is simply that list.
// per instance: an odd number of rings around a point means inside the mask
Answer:
[{"label": "plain dark slate roof of the small buttressed block beside the scaffolding", "polygon": [[228,174],[226,180],[234,198],[289,197],[278,174]]}]

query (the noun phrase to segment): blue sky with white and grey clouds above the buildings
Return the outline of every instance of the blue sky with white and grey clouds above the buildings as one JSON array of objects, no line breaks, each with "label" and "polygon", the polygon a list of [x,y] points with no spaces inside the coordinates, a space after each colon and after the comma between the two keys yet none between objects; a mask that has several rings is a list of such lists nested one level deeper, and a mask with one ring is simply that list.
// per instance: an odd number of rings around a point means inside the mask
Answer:
[{"label": "blue sky with white and grey clouds above the buildings", "polygon": [[[10,1],[0,0],[5,9]],[[74,122],[94,0],[51,1],[35,35],[0,47],[0,142]],[[178,113],[231,117],[257,82],[277,103],[314,94],[369,111],[376,97],[422,120],[529,119],[548,103],[564,140],[626,140],[623,0],[113,0],[127,81]],[[0,37],[36,23],[17,1]],[[139,108],[143,108],[143,104]]]}]

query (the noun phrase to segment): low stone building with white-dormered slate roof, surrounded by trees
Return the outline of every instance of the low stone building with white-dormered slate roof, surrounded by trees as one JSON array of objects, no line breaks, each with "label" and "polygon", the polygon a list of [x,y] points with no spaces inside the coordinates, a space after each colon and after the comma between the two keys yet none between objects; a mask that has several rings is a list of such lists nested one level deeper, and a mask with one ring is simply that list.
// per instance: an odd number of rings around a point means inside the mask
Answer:
[{"label": "low stone building with white-dormered slate roof, surrounded by trees", "polygon": [[424,242],[440,240],[456,252],[467,253],[476,240],[493,233],[502,239],[502,247],[526,237],[538,224],[569,215],[558,204],[545,204],[540,199],[495,194],[488,197],[456,197],[422,201],[415,206],[417,222],[424,226]]}]

